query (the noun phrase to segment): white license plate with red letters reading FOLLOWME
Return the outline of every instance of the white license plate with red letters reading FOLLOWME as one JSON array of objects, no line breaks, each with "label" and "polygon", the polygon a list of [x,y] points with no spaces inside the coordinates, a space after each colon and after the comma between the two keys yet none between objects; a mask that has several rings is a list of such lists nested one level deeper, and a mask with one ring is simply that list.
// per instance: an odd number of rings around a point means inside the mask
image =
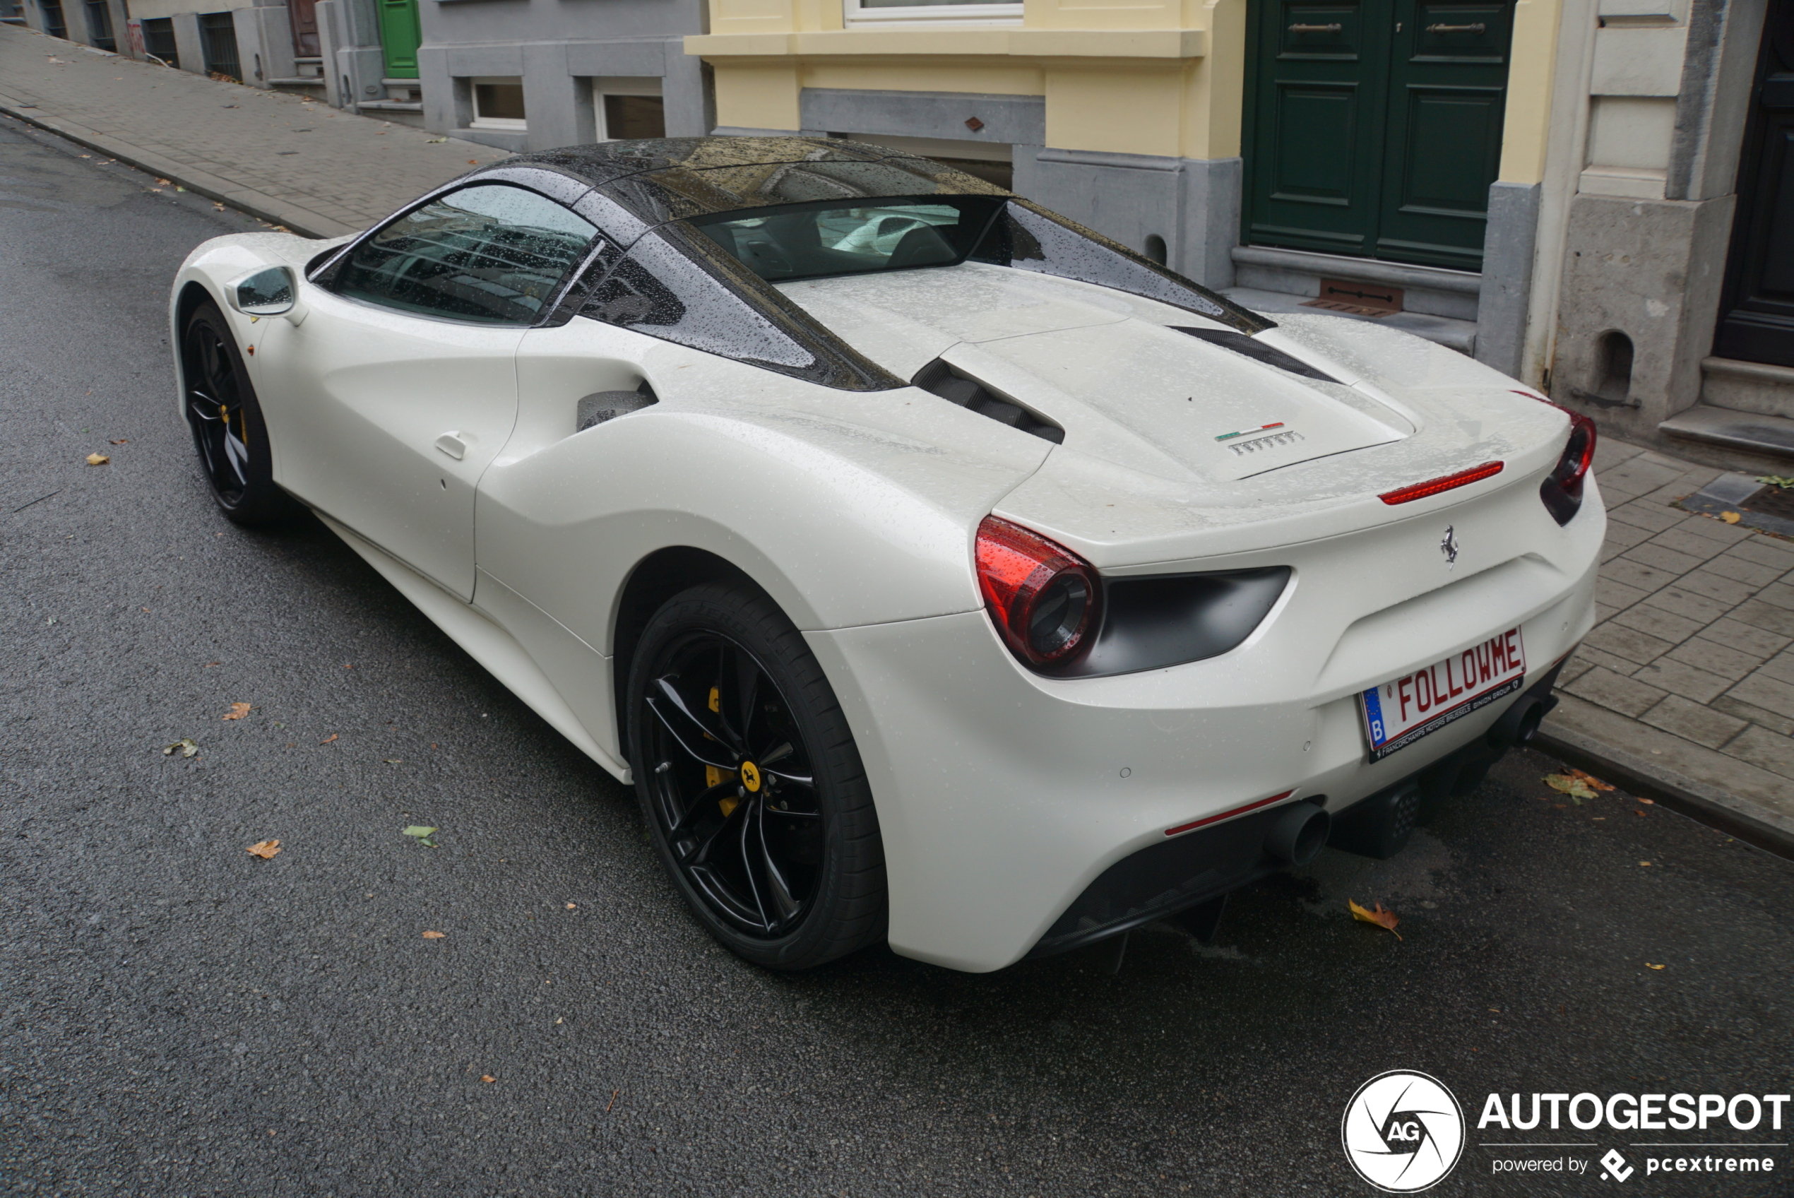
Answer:
[{"label": "white license plate with red letters reading FOLLOWME", "polygon": [[1509,628],[1442,662],[1417,669],[1358,694],[1371,760],[1439,732],[1455,719],[1482,710],[1520,690],[1527,680],[1527,649],[1520,629]]}]

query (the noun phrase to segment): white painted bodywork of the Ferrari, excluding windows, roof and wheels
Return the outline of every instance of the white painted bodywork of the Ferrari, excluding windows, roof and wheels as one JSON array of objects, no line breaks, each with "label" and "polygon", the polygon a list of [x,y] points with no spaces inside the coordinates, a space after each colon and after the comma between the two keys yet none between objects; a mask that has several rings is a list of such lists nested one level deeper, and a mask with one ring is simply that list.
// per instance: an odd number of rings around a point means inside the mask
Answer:
[{"label": "white painted bodywork of the Ferrari, excluding windows, roof and wheels", "polygon": [[[222,305],[228,280],[321,247],[219,239],[174,289],[206,289],[257,348],[276,479],[624,780],[614,637],[631,572],[669,547],[745,570],[850,717],[890,942],[908,956],[1001,968],[1168,827],[1288,789],[1335,811],[1363,798],[1469,744],[1505,705],[1369,764],[1358,690],[1516,624],[1532,678],[1593,622],[1593,479],[1568,525],[1539,502],[1568,418],[1374,325],[1290,316],[1258,335],[1338,380],[1320,382],[1175,332],[1224,328],[1191,312],[1010,267],[780,285],[899,377],[944,357],[1062,425],[1053,445],[919,387],[836,391],[583,317],[420,334],[432,321],[310,283],[300,325]],[[574,430],[581,396],[642,380],[658,404]],[[1270,423],[1301,438],[1247,454],[1216,439]],[[461,461],[434,450],[448,430],[472,434]],[[1401,508],[1378,499],[1482,461],[1502,473]],[[1116,577],[1293,576],[1222,656],[1046,678],[983,610],[985,515]]]}]

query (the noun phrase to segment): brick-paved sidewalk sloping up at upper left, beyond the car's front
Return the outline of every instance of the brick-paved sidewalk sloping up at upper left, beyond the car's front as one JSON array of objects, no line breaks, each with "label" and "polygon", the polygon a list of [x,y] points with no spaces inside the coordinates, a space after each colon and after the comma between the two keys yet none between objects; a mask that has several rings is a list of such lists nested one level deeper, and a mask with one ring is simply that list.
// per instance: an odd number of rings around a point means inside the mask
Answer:
[{"label": "brick-paved sidewalk sloping up at upper left, beyond the car's front", "polygon": [[310,237],[508,156],[16,25],[0,25],[0,111]]}]

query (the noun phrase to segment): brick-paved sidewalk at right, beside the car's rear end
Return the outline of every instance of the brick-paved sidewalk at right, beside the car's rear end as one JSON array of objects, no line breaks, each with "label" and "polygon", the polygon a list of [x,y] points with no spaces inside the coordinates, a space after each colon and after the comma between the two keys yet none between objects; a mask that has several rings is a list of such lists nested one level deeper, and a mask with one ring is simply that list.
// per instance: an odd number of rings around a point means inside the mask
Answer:
[{"label": "brick-paved sidewalk at right, beside the car's rear end", "polygon": [[1794,846],[1794,543],[1672,506],[1720,470],[1607,439],[1595,473],[1598,622],[1545,748]]}]

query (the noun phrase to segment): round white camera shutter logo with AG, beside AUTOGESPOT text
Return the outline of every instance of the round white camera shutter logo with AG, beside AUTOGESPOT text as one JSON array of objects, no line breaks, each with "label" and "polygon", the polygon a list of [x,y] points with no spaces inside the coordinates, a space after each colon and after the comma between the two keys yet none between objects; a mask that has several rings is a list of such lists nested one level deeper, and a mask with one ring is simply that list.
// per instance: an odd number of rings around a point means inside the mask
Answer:
[{"label": "round white camera shutter logo with AG, beside AUTOGESPOT text", "polygon": [[1371,1185],[1414,1194],[1435,1185],[1464,1155],[1464,1108],[1437,1078],[1392,1069],[1346,1103],[1340,1142]]}]

